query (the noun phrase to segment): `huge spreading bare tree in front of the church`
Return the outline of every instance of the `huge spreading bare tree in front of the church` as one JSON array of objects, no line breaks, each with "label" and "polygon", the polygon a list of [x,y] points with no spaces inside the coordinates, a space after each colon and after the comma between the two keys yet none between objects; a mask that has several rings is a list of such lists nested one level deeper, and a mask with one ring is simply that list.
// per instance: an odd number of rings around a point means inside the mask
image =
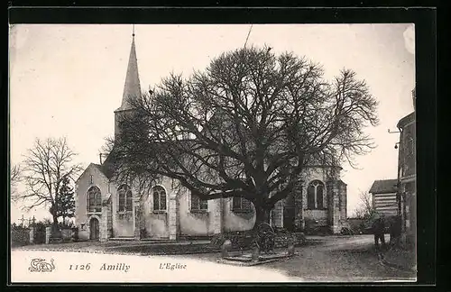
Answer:
[{"label": "huge spreading bare tree in front of the church", "polygon": [[170,75],[132,99],[108,160],[117,179],[167,177],[202,199],[242,196],[256,223],[299,185],[308,165],[353,165],[373,148],[377,102],[343,69],[332,81],[306,58],[245,48],[189,78]]}]

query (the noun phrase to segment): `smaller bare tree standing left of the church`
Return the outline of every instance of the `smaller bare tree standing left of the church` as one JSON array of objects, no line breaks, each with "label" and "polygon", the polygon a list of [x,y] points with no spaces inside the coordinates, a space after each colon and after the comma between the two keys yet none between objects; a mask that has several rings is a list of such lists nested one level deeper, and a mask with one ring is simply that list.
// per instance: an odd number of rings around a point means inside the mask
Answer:
[{"label": "smaller bare tree standing left of the church", "polygon": [[23,160],[25,190],[12,196],[14,201],[23,201],[23,209],[27,211],[38,206],[49,207],[56,226],[60,188],[66,178],[75,178],[82,170],[80,165],[73,163],[76,155],[65,138],[36,139]]}]

